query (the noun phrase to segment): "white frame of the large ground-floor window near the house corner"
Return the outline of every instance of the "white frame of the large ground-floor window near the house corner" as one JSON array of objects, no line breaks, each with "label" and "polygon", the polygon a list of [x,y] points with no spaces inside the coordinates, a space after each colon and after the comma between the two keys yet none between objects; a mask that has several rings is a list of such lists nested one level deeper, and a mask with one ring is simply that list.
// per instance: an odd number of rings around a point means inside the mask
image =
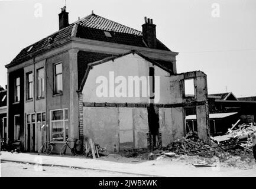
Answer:
[{"label": "white frame of the large ground-floor window near the house corner", "polygon": [[[59,119],[59,120],[52,120],[52,113],[58,110],[63,110],[63,119]],[[65,110],[67,110],[67,119],[65,118]],[[63,122],[63,141],[53,141],[53,122],[60,122],[62,120]],[[66,142],[66,125],[65,122],[68,122],[68,128],[69,128],[69,133],[70,133],[70,126],[69,126],[69,109],[68,108],[62,108],[62,109],[54,109],[54,110],[50,110],[50,141],[54,142],[54,143],[64,143]],[[67,133],[67,135],[69,136],[69,133]]]}]

